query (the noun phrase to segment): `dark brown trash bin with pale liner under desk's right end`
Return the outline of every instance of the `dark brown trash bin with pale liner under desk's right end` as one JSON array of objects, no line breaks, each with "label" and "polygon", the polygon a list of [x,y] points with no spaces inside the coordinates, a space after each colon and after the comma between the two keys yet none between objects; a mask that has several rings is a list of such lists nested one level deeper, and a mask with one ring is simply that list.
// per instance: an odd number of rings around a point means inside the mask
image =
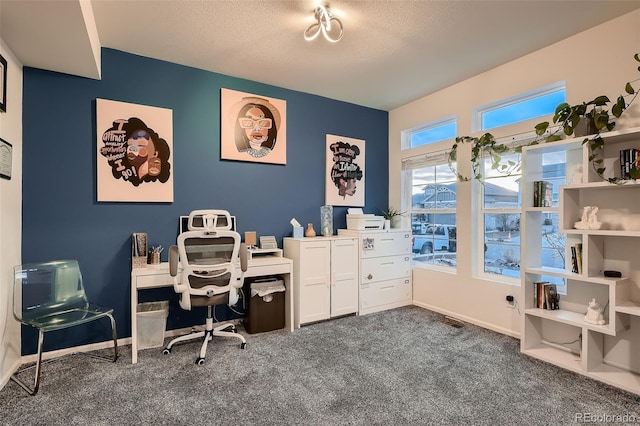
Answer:
[{"label": "dark brown trash bin with pale liner under desk's right end", "polygon": [[249,283],[244,328],[249,334],[284,328],[284,281],[278,277]]}]

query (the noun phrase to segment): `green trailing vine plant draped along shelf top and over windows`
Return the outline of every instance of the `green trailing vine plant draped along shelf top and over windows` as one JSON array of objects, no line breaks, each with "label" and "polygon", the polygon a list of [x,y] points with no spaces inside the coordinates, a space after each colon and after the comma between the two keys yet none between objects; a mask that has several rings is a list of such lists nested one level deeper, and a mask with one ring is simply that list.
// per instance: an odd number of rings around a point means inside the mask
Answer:
[{"label": "green trailing vine plant draped along shelf top and over windows", "polygon": [[[636,62],[640,63],[640,54],[636,53],[634,56]],[[640,66],[638,66],[640,72]],[[567,136],[575,136],[576,129],[579,126],[583,126],[581,122],[586,120],[587,131],[589,136],[586,136],[582,141],[582,144],[588,144],[589,146],[589,162],[593,166],[595,172],[602,178],[602,180],[609,181],[611,183],[623,183],[624,180],[617,177],[605,178],[605,167],[603,165],[603,152],[605,141],[600,136],[601,132],[613,130],[616,123],[615,120],[620,118],[622,114],[629,109],[631,104],[638,96],[639,90],[635,90],[631,83],[639,81],[640,78],[628,82],[625,85],[624,95],[619,95],[616,102],[611,106],[610,110],[607,110],[609,103],[611,102],[607,96],[598,96],[592,101],[582,102],[576,105],[569,105],[566,102],[559,104],[553,115],[553,123],[557,125],[553,132],[549,131],[550,123],[548,121],[539,123],[535,126],[536,137],[528,145],[537,145],[540,143],[550,143],[558,140],[562,140]],[[631,97],[629,101],[625,97]],[[512,173],[520,170],[520,161],[514,161],[512,159],[503,162],[503,156],[505,153],[511,153],[509,147],[496,141],[491,133],[485,133],[480,137],[472,136],[459,136],[456,137],[455,143],[449,151],[448,163],[449,168],[456,174],[459,181],[471,180],[468,176],[463,176],[458,173],[454,166],[454,162],[457,160],[458,146],[463,143],[471,143],[471,163],[473,179],[482,179],[482,165],[481,159],[487,157],[491,159],[491,168],[497,172],[509,176]],[[523,145],[526,146],[526,145]],[[515,153],[522,152],[522,146],[515,148]],[[640,164],[634,163],[631,171],[629,172],[629,178],[636,180],[640,178]]]}]

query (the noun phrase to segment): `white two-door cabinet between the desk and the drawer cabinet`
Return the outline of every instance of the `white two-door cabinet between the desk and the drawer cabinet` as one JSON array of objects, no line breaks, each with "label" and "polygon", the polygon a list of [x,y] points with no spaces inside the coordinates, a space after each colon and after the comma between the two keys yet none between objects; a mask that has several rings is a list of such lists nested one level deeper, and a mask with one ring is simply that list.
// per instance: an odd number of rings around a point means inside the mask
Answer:
[{"label": "white two-door cabinet between the desk and the drawer cabinet", "polygon": [[293,260],[294,324],[358,312],[358,243],[355,238],[285,238]]}]

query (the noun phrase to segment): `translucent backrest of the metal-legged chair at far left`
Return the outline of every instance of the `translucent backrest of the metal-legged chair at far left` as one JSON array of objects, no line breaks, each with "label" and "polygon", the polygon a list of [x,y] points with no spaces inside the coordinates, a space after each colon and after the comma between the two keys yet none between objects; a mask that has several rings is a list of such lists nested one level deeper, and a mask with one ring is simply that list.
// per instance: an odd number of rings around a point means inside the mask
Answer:
[{"label": "translucent backrest of the metal-legged chair at far left", "polygon": [[76,260],[17,265],[14,272],[13,315],[21,322],[84,308],[89,302]]}]

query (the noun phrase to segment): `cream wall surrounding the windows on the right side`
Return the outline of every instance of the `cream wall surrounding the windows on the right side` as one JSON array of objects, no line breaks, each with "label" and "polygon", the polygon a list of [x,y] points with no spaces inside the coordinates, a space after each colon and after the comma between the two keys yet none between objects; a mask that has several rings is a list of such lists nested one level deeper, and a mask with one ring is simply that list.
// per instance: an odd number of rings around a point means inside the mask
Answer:
[{"label": "cream wall surrounding the windows on the right side", "polygon": [[[523,24],[526,25],[524,21]],[[517,34],[513,36],[517,37]],[[401,158],[433,149],[426,146],[401,151],[402,130],[457,115],[458,135],[479,136],[471,133],[471,111],[474,107],[562,80],[566,81],[567,102],[570,104],[589,101],[602,94],[615,100],[624,93],[627,81],[640,77],[637,71],[639,64],[633,59],[634,53],[638,52],[640,10],[392,110],[389,114],[389,205],[401,205]],[[429,70],[424,72],[428,78]],[[635,82],[634,87],[637,90],[640,81]],[[618,128],[640,126],[638,104],[640,99],[623,116]],[[535,119],[492,129],[492,134],[501,137],[532,131],[540,121],[544,120]],[[451,143],[441,143],[437,147],[448,148]],[[458,168],[466,176],[471,176],[469,158],[468,145],[459,148]],[[414,304],[519,336],[519,312],[507,308],[505,303],[507,294],[519,295],[519,287],[475,278],[470,239],[461,238],[474,232],[472,185],[477,185],[477,182],[458,184],[457,272],[452,275],[414,268]]]}]

